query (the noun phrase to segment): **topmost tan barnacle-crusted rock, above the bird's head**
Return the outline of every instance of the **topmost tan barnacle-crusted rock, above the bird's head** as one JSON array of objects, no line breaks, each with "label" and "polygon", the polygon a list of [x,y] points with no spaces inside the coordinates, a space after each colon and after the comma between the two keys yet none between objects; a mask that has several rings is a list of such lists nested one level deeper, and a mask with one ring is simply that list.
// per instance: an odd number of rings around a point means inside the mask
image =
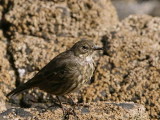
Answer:
[{"label": "topmost tan barnacle-crusted rock, above the bird's head", "polygon": [[8,34],[18,32],[45,39],[55,36],[95,38],[118,23],[110,0],[12,2],[13,8],[5,15],[6,21],[12,24]]}]

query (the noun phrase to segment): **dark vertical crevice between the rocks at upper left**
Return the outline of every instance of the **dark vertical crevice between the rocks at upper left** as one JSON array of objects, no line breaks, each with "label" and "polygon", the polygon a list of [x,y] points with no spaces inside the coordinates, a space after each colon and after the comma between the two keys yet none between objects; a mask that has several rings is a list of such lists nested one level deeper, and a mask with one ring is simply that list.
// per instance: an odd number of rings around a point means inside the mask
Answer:
[{"label": "dark vertical crevice between the rocks at upper left", "polygon": [[10,49],[10,42],[11,42],[11,36],[8,34],[9,28],[12,25],[11,23],[9,23],[8,21],[6,21],[5,19],[5,15],[6,13],[8,13],[8,11],[13,7],[13,2],[12,1],[8,1],[8,3],[5,3],[5,1],[1,1],[0,2],[1,5],[4,6],[4,9],[2,11],[2,21],[1,21],[1,29],[3,31],[3,35],[6,38],[6,44],[7,44],[7,59],[10,62],[11,68],[14,70],[15,72],[15,77],[16,77],[16,86],[18,86],[20,84],[20,77],[19,77],[19,72],[18,69],[15,66],[15,59],[13,57],[13,53],[11,52]]}]

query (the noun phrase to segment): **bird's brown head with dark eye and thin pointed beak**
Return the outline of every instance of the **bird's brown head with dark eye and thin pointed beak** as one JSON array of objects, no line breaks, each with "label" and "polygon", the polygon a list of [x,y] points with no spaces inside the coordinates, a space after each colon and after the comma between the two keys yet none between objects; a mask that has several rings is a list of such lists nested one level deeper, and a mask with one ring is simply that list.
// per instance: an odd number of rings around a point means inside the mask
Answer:
[{"label": "bird's brown head with dark eye and thin pointed beak", "polygon": [[103,50],[101,47],[97,47],[91,40],[81,40],[73,45],[71,51],[75,56],[87,57],[93,54],[95,50]]}]

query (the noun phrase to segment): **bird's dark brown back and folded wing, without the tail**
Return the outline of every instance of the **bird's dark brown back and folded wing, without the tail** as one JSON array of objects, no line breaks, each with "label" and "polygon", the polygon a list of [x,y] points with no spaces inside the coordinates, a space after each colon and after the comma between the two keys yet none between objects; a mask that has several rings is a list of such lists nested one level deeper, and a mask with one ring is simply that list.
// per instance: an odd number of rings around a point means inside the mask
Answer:
[{"label": "bird's dark brown back and folded wing, without the tail", "polygon": [[64,52],[51,60],[44,68],[42,68],[33,79],[35,81],[60,81],[64,76],[67,77],[71,73],[71,71],[77,71],[77,61],[71,59],[71,53]]}]

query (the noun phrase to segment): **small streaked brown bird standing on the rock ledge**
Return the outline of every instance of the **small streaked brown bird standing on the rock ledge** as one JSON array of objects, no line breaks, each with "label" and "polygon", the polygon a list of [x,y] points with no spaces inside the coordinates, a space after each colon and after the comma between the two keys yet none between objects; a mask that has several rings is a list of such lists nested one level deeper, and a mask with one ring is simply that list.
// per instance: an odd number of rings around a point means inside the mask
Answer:
[{"label": "small streaked brown bird standing on the rock ledge", "polygon": [[[7,96],[38,87],[47,93],[56,95],[60,102],[58,96],[79,89],[91,79],[95,69],[92,59],[95,50],[102,50],[102,48],[96,47],[90,40],[78,41],[69,50],[53,58],[32,79],[18,86]],[[61,102],[60,105],[62,106]]]}]

